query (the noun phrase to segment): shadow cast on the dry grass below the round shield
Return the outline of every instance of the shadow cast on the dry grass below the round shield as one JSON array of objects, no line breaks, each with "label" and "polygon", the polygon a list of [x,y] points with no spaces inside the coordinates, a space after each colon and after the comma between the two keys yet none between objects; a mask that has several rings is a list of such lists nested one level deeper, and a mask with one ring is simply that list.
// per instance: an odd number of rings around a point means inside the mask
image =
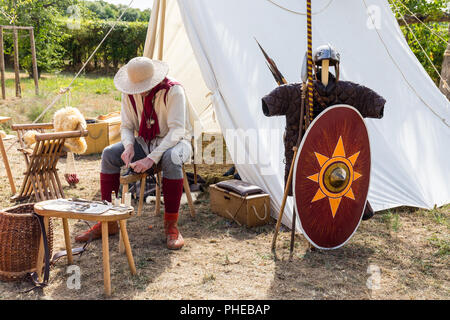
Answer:
[{"label": "shadow cast on the dry grass below the round shield", "polygon": [[292,261],[276,260],[268,299],[369,298],[366,281],[373,249],[350,243],[333,251],[310,251],[305,239],[297,242]]}]

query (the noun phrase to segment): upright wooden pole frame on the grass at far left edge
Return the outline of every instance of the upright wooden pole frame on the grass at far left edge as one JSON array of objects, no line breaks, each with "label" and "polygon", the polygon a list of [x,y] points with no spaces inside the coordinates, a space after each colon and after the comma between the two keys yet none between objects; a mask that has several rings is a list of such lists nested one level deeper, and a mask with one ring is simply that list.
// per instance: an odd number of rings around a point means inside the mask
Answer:
[{"label": "upright wooden pole frame on the grass at far left edge", "polygon": [[34,38],[34,28],[24,27],[24,26],[0,26],[0,74],[1,74],[1,87],[2,87],[2,98],[6,99],[6,86],[5,86],[5,53],[4,53],[4,41],[3,41],[3,31],[12,30],[13,33],[13,43],[14,43],[14,73],[16,82],[16,97],[22,97],[22,90],[20,87],[20,64],[19,64],[19,35],[18,31],[27,30],[30,37],[30,47],[31,47],[31,61],[33,64],[33,78],[35,94],[39,95],[39,73],[37,67],[36,58],[36,42]]}]

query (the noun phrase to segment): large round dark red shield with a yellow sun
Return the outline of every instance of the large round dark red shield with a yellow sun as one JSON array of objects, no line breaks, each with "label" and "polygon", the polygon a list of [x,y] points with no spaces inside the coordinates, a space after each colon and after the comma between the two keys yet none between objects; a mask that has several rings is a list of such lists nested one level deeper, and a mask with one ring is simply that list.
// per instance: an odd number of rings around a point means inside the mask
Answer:
[{"label": "large round dark red shield with a yellow sun", "polygon": [[370,182],[369,136],[355,108],[330,107],[311,123],[293,178],[305,237],[319,249],[343,246],[361,222]]}]

